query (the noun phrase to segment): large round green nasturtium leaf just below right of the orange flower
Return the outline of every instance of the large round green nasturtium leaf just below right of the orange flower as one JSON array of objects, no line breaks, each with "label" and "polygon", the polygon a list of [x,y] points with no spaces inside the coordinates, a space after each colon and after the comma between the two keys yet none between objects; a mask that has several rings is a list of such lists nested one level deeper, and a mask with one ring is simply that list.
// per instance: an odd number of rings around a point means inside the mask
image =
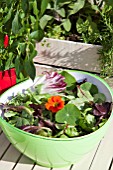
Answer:
[{"label": "large round green nasturtium leaf just below right of the orange flower", "polygon": [[67,104],[62,110],[56,113],[55,120],[58,123],[75,125],[80,116],[81,112],[75,105]]}]

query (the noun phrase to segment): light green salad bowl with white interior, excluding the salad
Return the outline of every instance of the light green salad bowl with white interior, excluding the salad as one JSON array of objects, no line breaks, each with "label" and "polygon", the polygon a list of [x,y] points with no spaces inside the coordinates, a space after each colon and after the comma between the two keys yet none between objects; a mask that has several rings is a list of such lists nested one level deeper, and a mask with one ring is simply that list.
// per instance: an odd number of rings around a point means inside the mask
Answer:
[{"label": "light green salad bowl with white interior, excluding the salad", "polygon": [[[87,80],[95,84],[99,91],[106,95],[108,102],[113,101],[113,93],[108,84],[98,76],[82,71],[69,71],[79,81]],[[37,77],[38,79],[38,77]],[[0,103],[11,99],[12,95],[23,92],[32,86],[32,80],[26,80],[7,90],[0,97]],[[13,127],[7,123],[2,116],[0,109],[0,126],[9,141],[23,154],[34,160],[37,164],[45,167],[65,167],[81,160],[87,153],[98,145],[106,133],[106,130],[113,119],[109,117],[107,122],[97,131],[82,137],[75,138],[47,138],[33,135]]]}]

